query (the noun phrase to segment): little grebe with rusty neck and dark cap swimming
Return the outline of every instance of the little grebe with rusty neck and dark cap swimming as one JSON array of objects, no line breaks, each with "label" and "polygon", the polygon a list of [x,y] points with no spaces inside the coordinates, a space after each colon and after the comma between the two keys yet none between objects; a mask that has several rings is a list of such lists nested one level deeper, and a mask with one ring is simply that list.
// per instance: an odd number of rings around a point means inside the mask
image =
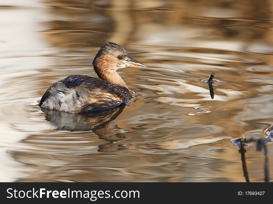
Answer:
[{"label": "little grebe with rusty neck and dark cap swimming", "polygon": [[100,79],[70,75],[52,84],[41,98],[39,106],[69,113],[118,107],[128,103],[132,94],[116,71],[127,66],[146,67],[130,57],[123,47],[111,42],[100,48],[92,64]]}]

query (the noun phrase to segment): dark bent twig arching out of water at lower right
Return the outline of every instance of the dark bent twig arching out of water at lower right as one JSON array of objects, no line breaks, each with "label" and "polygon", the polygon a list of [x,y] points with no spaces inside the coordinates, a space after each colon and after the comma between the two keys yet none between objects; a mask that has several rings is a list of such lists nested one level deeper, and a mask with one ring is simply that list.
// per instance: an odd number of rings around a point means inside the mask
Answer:
[{"label": "dark bent twig arching out of water at lower right", "polygon": [[[241,152],[241,156],[242,156],[242,162],[243,162],[243,170],[244,170],[244,176],[246,178],[246,181],[247,181],[247,177],[248,175],[245,174],[245,172],[247,173],[246,170],[246,166],[244,168],[244,162],[245,162],[245,157],[244,157],[244,161],[243,161],[243,155],[244,152],[245,152],[245,149],[244,149],[244,143],[249,143],[249,142],[256,142],[256,150],[257,151],[262,151],[263,149],[263,153],[265,155],[265,165],[264,165],[264,172],[265,172],[265,182],[269,182],[269,170],[268,170],[268,157],[267,157],[267,147],[266,147],[266,142],[263,138],[239,138],[238,139],[241,146],[240,146],[240,150],[239,152]],[[243,153],[242,153],[243,152]],[[245,165],[246,165],[246,162],[245,162]],[[247,177],[246,177],[247,175]],[[249,182],[249,179],[248,181]]]}]

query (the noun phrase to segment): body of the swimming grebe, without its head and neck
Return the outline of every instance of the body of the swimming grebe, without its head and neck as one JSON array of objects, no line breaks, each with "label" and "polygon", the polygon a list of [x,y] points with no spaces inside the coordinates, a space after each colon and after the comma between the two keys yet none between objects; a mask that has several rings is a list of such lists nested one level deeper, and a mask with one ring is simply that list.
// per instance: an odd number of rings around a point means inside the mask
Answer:
[{"label": "body of the swimming grebe, without its head and neck", "polygon": [[71,75],[52,84],[39,106],[69,113],[94,112],[117,107],[132,99],[130,91],[98,78]]}]

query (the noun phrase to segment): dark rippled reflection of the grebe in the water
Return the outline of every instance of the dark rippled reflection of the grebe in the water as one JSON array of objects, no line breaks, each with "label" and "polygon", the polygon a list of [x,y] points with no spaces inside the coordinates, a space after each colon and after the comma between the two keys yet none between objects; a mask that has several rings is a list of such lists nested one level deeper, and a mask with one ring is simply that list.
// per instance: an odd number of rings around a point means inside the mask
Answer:
[{"label": "dark rippled reflection of the grebe in the water", "polygon": [[114,152],[128,149],[132,146],[120,143],[120,141],[126,138],[125,134],[129,130],[119,128],[115,122],[125,106],[125,104],[122,104],[119,107],[108,110],[85,114],[73,114],[53,110],[42,111],[45,112],[46,120],[53,125],[54,129],[68,131],[92,130],[100,139],[108,141],[106,144],[99,145],[98,151]]}]

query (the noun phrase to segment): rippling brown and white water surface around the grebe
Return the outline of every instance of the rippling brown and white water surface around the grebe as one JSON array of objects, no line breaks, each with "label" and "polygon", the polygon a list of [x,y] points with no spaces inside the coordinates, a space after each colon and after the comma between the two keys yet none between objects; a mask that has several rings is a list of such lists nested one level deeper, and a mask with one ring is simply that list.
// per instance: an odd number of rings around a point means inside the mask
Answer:
[{"label": "rippling brown and white water surface around the grebe", "polygon": [[[244,182],[232,139],[273,125],[272,9],[266,0],[0,1],[0,181]],[[119,71],[136,101],[84,116],[36,106],[67,75],[97,77],[92,61],[107,41],[148,67]],[[262,182],[263,153],[246,148],[250,181]]]}]

